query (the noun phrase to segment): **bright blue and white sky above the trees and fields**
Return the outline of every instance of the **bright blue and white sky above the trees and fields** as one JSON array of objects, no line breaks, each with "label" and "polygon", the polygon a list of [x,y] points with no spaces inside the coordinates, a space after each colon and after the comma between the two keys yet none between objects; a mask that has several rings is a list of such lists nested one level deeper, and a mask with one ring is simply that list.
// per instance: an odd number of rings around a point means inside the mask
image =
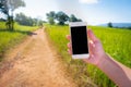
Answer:
[{"label": "bright blue and white sky above the trees and fields", "polygon": [[90,25],[112,23],[131,23],[131,0],[24,0],[25,8],[14,13],[23,12],[27,16],[46,18],[50,11],[63,11],[74,14]]}]

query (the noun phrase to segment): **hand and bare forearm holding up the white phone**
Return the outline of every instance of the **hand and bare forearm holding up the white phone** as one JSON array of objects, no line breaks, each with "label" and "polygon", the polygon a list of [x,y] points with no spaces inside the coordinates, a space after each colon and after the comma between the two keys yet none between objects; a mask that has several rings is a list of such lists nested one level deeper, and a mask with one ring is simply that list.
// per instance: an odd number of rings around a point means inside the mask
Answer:
[{"label": "hand and bare forearm holding up the white phone", "polygon": [[[92,63],[99,67],[112,82],[119,87],[131,86],[131,69],[124,66],[120,62],[114,60],[110,55],[107,55],[103,49],[100,40],[93,34],[91,29],[87,30],[88,35],[88,59],[83,59],[87,63]],[[71,36],[67,38],[71,40]],[[68,51],[72,54],[71,42],[68,44]]]}]

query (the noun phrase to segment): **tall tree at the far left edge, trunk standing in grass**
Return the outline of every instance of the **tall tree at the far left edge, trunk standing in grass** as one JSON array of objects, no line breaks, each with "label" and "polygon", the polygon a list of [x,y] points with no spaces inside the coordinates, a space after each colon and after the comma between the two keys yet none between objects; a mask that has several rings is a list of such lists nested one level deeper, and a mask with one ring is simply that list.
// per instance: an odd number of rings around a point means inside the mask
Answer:
[{"label": "tall tree at the far left edge, trunk standing in grass", "polygon": [[13,30],[13,11],[20,7],[25,7],[23,0],[0,0],[0,11],[7,15],[7,26]]}]

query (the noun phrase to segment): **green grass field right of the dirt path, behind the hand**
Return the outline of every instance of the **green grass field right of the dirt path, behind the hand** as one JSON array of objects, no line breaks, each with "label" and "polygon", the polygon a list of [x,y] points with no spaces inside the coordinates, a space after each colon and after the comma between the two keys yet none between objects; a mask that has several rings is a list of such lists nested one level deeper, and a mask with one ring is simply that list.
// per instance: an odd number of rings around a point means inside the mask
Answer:
[{"label": "green grass field right of the dirt path, behind the hand", "polygon": [[[99,87],[116,87],[116,85],[97,67],[85,64],[81,60],[72,60],[67,52],[66,35],[69,35],[68,26],[48,25],[46,32],[58,48],[59,53],[73,72],[73,77],[80,87],[87,86],[88,77]],[[102,40],[104,49],[117,61],[131,67],[131,30],[108,28],[99,26],[90,26],[95,35]]]}]

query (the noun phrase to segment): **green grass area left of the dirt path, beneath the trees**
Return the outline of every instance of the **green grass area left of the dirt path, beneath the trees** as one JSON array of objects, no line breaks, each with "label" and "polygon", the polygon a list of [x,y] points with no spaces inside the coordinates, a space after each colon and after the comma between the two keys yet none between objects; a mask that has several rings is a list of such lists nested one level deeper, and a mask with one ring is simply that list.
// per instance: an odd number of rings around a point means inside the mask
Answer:
[{"label": "green grass area left of the dirt path, beneath the trees", "polygon": [[38,27],[22,26],[14,24],[14,32],[5,29],[5,23],[0,22],[0,60],[2,59],[4,52],[21,42],[24,37],[28,35],[29,32],[37,29]]}]

